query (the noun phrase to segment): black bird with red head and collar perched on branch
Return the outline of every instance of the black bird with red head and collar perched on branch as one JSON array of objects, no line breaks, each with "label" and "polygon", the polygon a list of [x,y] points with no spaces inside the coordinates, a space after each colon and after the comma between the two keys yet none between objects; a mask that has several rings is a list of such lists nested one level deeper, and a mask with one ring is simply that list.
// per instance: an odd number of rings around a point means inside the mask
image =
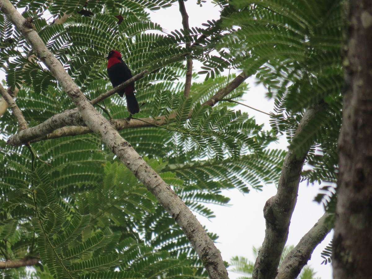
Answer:
[{"label": "black bird with red head and collar perched on branch", "polygon": [[[107,73],[109,74],[113,87],[122,84],[124,81],[129,80],[129,78],[132,77],[131,70],[129,70],[128,66],[121,59],[121,54],[119,51],[112,50],[105,57],[108,58]],[[128,112],[131,114],[140,112],[140,106],[138,106],[137,99],[134,96],[134,83],[128,85],[118,92],[120,97],[123,97],[124,93]]]}]

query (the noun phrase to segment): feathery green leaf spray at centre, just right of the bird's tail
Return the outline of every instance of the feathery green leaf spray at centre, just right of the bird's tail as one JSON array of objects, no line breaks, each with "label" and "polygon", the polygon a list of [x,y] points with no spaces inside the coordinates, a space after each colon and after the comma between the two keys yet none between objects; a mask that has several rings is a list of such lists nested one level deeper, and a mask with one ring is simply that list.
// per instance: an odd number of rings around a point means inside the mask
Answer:
[{"label": "feathery green leaf spray at centre, just right of the bird's tail", "polygon": [[[157,115],[164,115],[164,128],[181,134],[179,144],[187,142],[187,148],[205,150],[202,155],[210,157],[215,154],[221,160],[226,147],[231,157],[237,158],[240,155],[238,142],[243,142],[256,155],[262,155],[261,146],[249,137],[251,132],[260,131],[261,127],[247,115],[229,111],[226,107],[212,110],[197,103],[188,119],[191,106],[192,99],[183,94],[158,92],[152,115],[156,120]],[[175,115],[171,114],[173,111],[176,111]]]}]

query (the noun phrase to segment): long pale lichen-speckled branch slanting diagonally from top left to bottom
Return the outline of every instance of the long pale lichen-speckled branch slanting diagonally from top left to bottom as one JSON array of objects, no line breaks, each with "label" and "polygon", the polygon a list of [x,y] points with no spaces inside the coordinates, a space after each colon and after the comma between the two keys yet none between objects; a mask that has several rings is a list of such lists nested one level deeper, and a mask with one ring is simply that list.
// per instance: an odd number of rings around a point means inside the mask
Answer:
[{"label": "long pale lichen-speckled branch slanting diagonally from top left to bottom", "polygon": [[30,26],[30,22],[20,15],[9,0],[0,0],[1,11],[9,18],[32,45],[36,56],[44,62],[51,74],[73,100],[81,118],[95,134],[112,150],[128,169],[153,193],[160,204],[180,225],[210,278],[228,278],[221,254],[185,203],[171,190],[170,186],[141,158],[124,140],[115,127],[88,102],[80,88],[74,83],[62,64],[47,49],[44,42]]}]

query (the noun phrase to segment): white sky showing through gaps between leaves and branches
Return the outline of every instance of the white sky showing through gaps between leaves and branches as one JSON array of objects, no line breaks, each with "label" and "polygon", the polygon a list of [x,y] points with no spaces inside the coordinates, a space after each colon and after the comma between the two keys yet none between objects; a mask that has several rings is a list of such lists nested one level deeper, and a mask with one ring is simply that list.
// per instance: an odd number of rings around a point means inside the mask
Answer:
[{"label": "white sky showing through gaps between leaves and branches", "polygon": [[[206,20],[218,19],[219,8],[208,1],[203,3],[203,7],[196,5],[196,0],[189,0],[185,3],[187,13],[189,15],[190,27],[199,26]],[[181,16],[178,5],[175,4],[165,10],[157,10],[151,12],[151,18],[154,22],[159,23],[166,31],[181,29]],[[199,67],[197,63],[194,67]],[[199,71],[197,68],[195,71]],[[4,78],[3,73],[0,73],[0,80]],[[256,109],[270,112],[273,108],[273,101],[267,100],[264,97],[265,90],[262,86],[254,86],[254,78],[249,78],[248,83],[251,89],[244,94],[245,103]],[[237,109],[247,111],[250,115],[256,117],[258,124],[264,123],[265,128],[269,129],[269,116],[254,110],[247,109],[244,106],[238,106]],[[273,148],[286,148],[286,141],[281,142]],[[292,216],[291,227],[289,229],[289,239],[287,245],[298,243],[301,237],[317,222],[323,215],[323,207],[316,202],[313,202],[314,197],[318,193],[318,185],[306,186],[306,183],[300,184],[298,201],[295,212]],[[216,215],[216,218],[210,221],[199,217],[199,221],[206,228],[219,235],[216,243],[217,248],[222,253],[222,258],[225,261],[230,261],[233,256],[244,256],[254,262],[252,247],[262,245],[264,238],[265,222],[263,218],[263,206],[267,199],[274,196],[276,193],[275,186],[265,186],[263,192],[251,190],[247,195],[242,195],[238,190],[225,190],[222,194],[231,198],[231,206],[209,206]],[[320,253],[331,240],[331,235],[328,235],[323,243],[315,249],[312,259],[308,264],[317,272],[316,276],[322,279],[331,279],[331,265],[321,265],[322,258]],[[229,270],[231,279],[238,278],[238,274]]]}]

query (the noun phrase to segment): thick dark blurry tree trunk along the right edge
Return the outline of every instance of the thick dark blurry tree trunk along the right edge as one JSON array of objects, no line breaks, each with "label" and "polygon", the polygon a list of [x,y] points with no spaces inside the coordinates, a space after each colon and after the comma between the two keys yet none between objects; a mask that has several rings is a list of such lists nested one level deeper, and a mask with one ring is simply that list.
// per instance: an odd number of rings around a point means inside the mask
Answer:
[{"label": "thick dark blurry tree trunk along the right edge", "polygon": [[372,2],[347,1],[333,278],[372,278]]}]

